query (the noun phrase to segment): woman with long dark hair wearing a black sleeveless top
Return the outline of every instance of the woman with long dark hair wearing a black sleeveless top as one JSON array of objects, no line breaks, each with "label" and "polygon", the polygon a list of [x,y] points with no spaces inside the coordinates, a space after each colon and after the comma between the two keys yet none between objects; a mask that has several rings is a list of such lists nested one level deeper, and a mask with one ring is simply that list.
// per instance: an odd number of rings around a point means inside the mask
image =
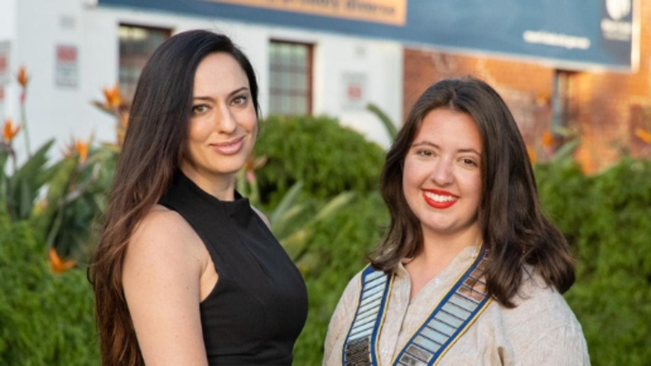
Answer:
[{"label": "woman with long dark hair wearing a black sleeveless top", "polygon": [[305,285],[234,190],[258,86],[227,36],[187,31],[140,76],[90,262],[104,365],[290,365]]}]

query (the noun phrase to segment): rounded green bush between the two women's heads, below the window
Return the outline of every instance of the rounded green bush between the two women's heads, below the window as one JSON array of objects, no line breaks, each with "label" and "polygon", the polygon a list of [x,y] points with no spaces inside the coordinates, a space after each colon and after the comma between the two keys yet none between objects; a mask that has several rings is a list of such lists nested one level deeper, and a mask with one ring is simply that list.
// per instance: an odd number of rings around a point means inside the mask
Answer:
[{"label": "rounded green bush between the two women's heads, below the window", "polygon": [[378,187],[384,153],[375,143],[328,117],[272,116],[255,147],[269,160],[256,176],[263,201],[275,203],[301,180],[318,198]]}]

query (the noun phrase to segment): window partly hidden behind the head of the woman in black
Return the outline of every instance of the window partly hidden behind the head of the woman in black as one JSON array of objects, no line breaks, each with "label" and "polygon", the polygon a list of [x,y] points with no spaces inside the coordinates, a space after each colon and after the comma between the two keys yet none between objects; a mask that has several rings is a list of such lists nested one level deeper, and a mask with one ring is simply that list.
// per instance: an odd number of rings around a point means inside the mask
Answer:
[{"label": "window partly hidden behind the head of the woman in black", "polygon": [[133,99],[135,85],[147,60],[170,35],[169,29],[120,25],[120,94],[125,100]]}]

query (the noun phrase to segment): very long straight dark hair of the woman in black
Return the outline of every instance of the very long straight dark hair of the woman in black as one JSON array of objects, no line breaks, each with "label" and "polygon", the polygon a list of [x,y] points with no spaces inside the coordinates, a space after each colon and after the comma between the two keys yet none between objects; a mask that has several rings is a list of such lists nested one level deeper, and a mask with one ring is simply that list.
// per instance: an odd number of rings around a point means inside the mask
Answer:
[{"label": "very long straight dark hair of the woman in black", "polygon": [[253,66],[227,36],[209,31],[179,33],[150,57],[135,90],[102,237],[89,266],[103,365],[144,365],[122,289],[122,262],[133,231],[178,169],[195,71],[214,52],[228,53],[242,66],[259,111]]}]

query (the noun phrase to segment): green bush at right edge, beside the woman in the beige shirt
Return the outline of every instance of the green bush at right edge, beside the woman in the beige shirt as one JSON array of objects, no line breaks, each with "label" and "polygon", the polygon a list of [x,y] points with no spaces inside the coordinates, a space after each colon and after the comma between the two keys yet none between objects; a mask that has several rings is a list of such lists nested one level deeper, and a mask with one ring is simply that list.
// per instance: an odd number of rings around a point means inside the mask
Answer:
[{"label": "green bush at right edge, beside the woman in the beige shirt", "polygon": [[566,294],[593,365],[651,364],[651,162],[594,176],[571,160],[536,169],[542,205],[577,258]]}]

